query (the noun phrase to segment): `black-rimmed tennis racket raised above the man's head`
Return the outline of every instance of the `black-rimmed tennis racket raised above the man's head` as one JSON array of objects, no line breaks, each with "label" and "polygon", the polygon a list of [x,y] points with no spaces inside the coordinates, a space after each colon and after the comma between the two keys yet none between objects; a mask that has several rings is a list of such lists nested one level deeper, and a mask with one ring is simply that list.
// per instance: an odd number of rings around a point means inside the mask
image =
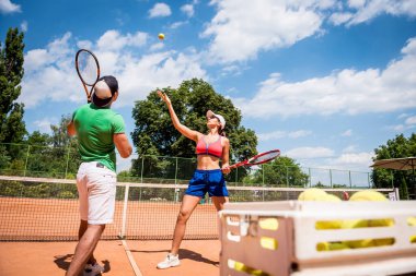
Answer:
[{"label": "black-rimmed tennis racket raised above the man's head", "polygon": [[[80,49],[76,56],[77,73],[84,86],[88,103],[91,103],[91,92],[100,79],[100,63],[95,55],[86,49]],[[90,86],[89,89],[86,86]]]}]

